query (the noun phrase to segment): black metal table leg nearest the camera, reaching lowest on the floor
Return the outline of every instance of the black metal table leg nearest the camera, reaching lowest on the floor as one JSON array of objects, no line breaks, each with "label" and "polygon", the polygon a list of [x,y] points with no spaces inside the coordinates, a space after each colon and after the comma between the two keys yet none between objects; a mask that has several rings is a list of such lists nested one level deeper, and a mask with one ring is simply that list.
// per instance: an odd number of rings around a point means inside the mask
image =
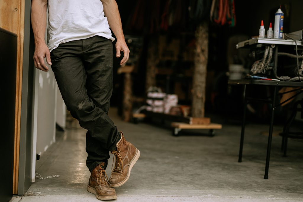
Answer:
[{"label": "black metal table leg nearest the camera, reaching lowest on the floor", "polygon": [[270,120],[270,126],[269,126],[269,134],[268,134],[264,179],[268,179],[268,168],[269,168],[269,158],[270,158],[270,150],[271,150],[272,129],[273,129],[273,125],[274,125],[276,96],[277,96],[277,86],[274,87],[274,98],[272,99],[271,120]]}]

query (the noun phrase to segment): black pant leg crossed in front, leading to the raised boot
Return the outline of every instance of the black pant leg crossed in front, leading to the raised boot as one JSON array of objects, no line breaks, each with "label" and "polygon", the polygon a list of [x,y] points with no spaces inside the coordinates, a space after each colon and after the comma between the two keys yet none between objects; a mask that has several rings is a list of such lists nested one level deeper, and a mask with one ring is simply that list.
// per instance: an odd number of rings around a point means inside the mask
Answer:
[{"label": "black pant leg crossed in front, leading to the raised boot", "polygon": [[[96,154],[98,161],[107,161],[108,151],[116,148],[118,131],[105,111],[98,108],[87,94],[87,75],[83,62],[83,41],[60,44],[51,52],[52,70],[67,109],[78,119],[90,137],[98,141],[102,152]],[[105,152],[106,151],[106,152]],[[88,164],[90,171],[97,163]]]}]

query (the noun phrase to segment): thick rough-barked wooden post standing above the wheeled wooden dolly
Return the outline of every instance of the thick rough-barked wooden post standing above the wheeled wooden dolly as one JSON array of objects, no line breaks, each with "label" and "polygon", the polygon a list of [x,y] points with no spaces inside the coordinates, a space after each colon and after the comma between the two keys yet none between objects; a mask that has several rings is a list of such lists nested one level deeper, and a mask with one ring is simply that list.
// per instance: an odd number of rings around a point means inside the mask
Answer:
[{"label": "thick rough-barked wooden post standing above the wheeled wooden dolly", "polygon": [[198,25],[196,33],[191,116],[203,118],[205,104],[206,65],[208,61],[208,23]]}]

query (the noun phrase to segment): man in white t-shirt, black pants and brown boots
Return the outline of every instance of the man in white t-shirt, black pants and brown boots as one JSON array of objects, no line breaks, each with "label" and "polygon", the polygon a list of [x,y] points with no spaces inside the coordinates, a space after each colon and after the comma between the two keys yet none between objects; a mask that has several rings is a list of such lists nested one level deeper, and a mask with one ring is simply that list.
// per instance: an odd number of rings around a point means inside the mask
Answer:
[{"label": "man in white t-shirt, black pants and brown boots", "polygon": [[[45,44],[48,8],[48,46]],[[114,38],[116,57],[128,60],[120,14],[115,0],[32,0],[32,28],[35,36],[35,67],[52,66],[58,87],[72,116],[87,129],[86,164],[91,172],[87,190],[100,200],[116,199],[115,189],[124,184],[140,156],[108,117],[112,95]],[[109,151],[115,166],[105,174]]]}]

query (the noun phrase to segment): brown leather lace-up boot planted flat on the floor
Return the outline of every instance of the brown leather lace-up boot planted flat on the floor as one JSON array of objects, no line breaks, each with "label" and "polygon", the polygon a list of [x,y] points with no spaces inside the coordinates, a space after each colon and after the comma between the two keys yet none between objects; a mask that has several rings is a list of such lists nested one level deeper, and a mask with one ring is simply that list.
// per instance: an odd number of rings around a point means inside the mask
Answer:
[{"label": "brown leather lace-up boot planted flat on the floor", "polygon": [[105,163],[97,165],[89,177],[87,190],[96,195],[99,200],[116,199],[116,191],[108,185],[108,177],[104,170]]}]

